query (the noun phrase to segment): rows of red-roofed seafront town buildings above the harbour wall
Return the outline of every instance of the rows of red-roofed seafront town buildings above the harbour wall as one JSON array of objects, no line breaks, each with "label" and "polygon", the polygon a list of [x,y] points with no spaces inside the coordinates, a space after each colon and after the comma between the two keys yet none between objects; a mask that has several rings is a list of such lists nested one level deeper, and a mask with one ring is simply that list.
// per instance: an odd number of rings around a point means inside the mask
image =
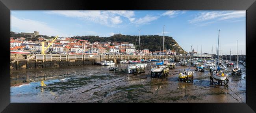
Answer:
[{"label": "rows of red-roofed seafront town buildings above the harbour wall", "polygon": [[[30,35],[31,37],[25,37]],[[42,42],[45,42],[45,48],[52,42],[46,39],[39,32],[24,33],[21,37],[10,38],[10,50],[22,50],[27,52],[41,52]],[[118,34],[119,35],[119,34]],[[118,36],[117,35],[117,36]],[[37,37],[35,37],[37,36]],[[92,42],[82,39],[58,37],[52,45],[46,50],[46,54],[66,52],[68,54],[126,54],[126,55],[159,55],[162,51],[150,51],[143,49],[136,50],[133,43],[128,42]],[[176,55],[175,50],[165,50],[165,55]]]}]

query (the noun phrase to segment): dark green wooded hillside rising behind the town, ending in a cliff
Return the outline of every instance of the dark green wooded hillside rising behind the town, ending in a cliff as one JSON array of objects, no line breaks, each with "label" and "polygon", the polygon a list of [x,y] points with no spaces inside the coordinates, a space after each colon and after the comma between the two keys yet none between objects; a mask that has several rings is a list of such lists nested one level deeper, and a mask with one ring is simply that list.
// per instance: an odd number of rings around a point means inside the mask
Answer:
[{"label": "dark green wooded hillside rising behind the town, ending in a cliff", "polygon": [[[99,37],[99,36],[76,36],[72,37],[75,39],[86,39],[93,43],[95,41],[110,41],[110,42],[120,42],[126,41],[129,43],[134,43],[135,47],[139,48],[139,37],[130,35],[116,35],[110,37]],[[150,51],[163,50],[163,36],[159,35],[148,35],[140,36],[141,38],[141,49],[149,49]],[[136,41],[137,39],[137,41]],[[170,36],[165,36],[165,48],[176,50],[177,54],[187,54],[185,50],[178,45],[178,43]]]}]

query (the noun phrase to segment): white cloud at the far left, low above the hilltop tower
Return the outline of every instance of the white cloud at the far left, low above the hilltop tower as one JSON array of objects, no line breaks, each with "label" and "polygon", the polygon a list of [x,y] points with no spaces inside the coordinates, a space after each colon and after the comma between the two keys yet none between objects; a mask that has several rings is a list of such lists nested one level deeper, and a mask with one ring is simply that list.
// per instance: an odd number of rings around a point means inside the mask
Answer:
[{"label": "white cloud at the far left, low above the hilltop tower", "polygon": [[20,19],[15,16],[11,16],[11,29],[19,29],[21,32],[34,32],[39,31],[39,34],[47,36],[63,36],[69,37],[71,35],[65,34],[58,29],[50,27],[47,23],[39,22],[29,19]]}]

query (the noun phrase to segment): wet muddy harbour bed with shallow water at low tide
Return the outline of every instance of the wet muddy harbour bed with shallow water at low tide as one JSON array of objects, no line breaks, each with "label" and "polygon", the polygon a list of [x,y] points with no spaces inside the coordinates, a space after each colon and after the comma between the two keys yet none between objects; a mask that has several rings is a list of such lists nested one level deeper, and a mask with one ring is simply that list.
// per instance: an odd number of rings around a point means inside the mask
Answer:
[{"label": "wet muddy harbour bed with shallow water at low tide", "polygon": [[117,74],[99,65],[11,71],[11,103],[246,102],[246,69],[241,64],[241,76],[229,72],[228,87],[211,86],[209,70],[195,72],[193,83],[178,82],[178,70],[188,68],[178,63],[167,78],[151,78],[151,66],[153,62],[137,75]]}]

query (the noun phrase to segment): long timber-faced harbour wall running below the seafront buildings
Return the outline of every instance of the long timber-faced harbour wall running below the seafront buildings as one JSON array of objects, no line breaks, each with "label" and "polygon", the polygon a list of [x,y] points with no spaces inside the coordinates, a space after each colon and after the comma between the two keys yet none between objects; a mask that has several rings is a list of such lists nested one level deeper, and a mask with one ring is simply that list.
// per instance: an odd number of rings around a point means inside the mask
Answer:
[{"label": "long timber-faced harbour wall running below the seafront buildings", "polygon": [[35,68],[54,68],[60,66],[79,66],[94,65],[96,62],[113,61],[119,63],[122,59],[169,59],[174,58],[178,61],[185,56],[138,56],[138,55],[59,55],[59,54],[10,54],[10,70],[35,69]]}]

